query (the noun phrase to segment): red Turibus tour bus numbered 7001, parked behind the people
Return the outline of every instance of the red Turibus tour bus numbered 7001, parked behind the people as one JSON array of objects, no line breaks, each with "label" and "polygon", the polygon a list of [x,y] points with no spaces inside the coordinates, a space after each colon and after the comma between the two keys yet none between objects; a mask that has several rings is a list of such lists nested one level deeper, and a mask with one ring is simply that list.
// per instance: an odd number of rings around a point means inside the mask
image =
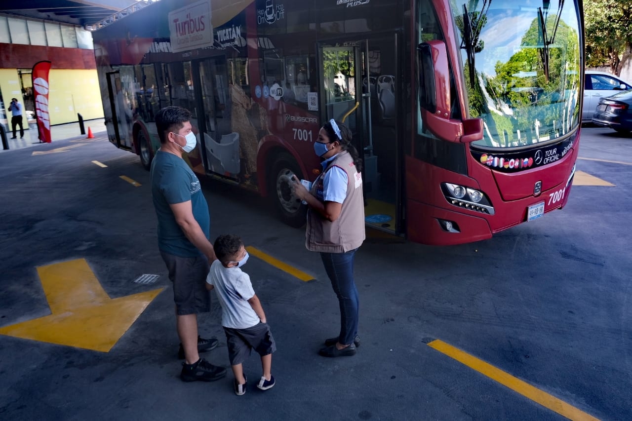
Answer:
[{"label": "red Turibus tour bus numbered 7001, parked behind the people", "polygon": [[299,226],[288,174],[316,178],[335,118],[363,151],[367,224],[451,245],[566,204],[582,26],[581,0],[161,0],[93,37],[109,140],[146,168],[155,113],[186,107],[191,168]]}]

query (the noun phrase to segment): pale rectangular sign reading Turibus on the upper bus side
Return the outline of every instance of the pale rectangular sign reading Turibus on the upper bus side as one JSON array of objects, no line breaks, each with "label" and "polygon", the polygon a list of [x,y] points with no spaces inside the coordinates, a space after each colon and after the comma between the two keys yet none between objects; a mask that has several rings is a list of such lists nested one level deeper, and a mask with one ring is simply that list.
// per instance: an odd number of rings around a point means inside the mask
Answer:
[{"label": "pale rectangular sign reading Turibus on the upper bus side", "polygon": [[212,45],[209,1],[198,1],[169,13],[169,31],[173,52]]}]

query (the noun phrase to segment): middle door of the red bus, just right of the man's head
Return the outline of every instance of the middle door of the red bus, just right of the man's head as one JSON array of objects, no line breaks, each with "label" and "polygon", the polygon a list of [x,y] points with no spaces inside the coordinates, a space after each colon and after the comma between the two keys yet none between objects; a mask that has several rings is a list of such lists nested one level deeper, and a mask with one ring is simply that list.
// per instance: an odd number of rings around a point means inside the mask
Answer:
[{"label": "middle door of the red bus, just right of the man's head", "polygon": [[205,166],[210,173],[237,180],[241,172],[240,137],[231,130],[231,92],[226,57],[198,63],[201,92],[198,119]]}]

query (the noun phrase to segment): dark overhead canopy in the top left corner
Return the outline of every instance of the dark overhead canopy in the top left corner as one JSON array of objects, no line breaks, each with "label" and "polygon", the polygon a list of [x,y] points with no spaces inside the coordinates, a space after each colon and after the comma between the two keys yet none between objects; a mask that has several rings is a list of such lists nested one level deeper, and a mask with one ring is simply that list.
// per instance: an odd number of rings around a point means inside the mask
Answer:
[{"label": "dark overhead canopy in the top left corner", "polygon": [[110,18],[132,4],[153,1],[155,0],[0,0],[0,10],[9,15],[87,27]]}]

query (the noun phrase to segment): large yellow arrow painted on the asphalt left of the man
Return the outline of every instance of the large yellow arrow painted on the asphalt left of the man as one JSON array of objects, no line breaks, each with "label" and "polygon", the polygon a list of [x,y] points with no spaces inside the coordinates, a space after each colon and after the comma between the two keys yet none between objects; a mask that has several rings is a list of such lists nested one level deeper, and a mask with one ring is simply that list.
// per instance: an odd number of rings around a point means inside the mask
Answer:
[{"label": "large yellow arrow painted on the asphalt left of the man", "polygon": [[107,352],[164,289],[110,298],[85,259],[37,272],[51,315],[0,327],[0,334]]}]

